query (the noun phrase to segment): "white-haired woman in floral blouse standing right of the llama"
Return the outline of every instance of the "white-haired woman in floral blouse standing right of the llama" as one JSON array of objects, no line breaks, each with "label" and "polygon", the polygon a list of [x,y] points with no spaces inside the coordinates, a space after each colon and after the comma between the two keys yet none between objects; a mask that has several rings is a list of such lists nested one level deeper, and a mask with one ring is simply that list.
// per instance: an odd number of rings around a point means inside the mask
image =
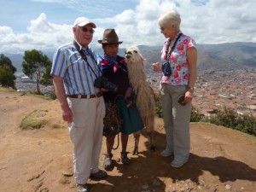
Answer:
[{"label": "white-haired woman in floral blouse standing right of the llama", "polygon": [[171,166],[183,166],[189,160],[189,122],[196,79],[197,50],[195,40],[180,30],[180,15],[175,10],[159,18],[160,32],[166,42],[161,61],[153,70],[162,70],[160,96],[166,131],[166,148],[162,156],[172,156]]}]

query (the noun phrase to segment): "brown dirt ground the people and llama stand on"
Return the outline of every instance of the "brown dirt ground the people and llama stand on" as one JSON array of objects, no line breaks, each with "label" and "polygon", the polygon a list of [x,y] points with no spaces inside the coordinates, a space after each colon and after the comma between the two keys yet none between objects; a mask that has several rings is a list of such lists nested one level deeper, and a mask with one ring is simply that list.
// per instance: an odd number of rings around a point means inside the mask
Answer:
[{"label": "brown dirt ground the people and llama stand on", "polygon": [[[43,126],[22,131],[20,121],[33,110]],[[189,162],[181,168],[161,157],[166,137],[162,119],[155,118],[157,151],[148,151],[141,137],[138,155],[128,154],[130,165],[113,151],[114,167],[102,181],[89,181],[90,192],[256,191],[256,138],[221,126],[191,123]],[[117,143],[116,139],[116,143]],[[133,149],[133,136],[128,151]],[[105,152],[102,145],[101,168]],[[0,88],[0,192],[75,192],[73,145],[61,120],[58,101],[20,96]]]}]

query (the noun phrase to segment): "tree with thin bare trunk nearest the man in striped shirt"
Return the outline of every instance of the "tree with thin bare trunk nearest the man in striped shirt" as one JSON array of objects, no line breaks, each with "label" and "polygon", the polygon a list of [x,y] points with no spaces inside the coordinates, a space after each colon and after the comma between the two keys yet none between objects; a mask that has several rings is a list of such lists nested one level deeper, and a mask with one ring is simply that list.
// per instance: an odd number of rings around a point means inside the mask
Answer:
[{"label": "tree with thin bare trunk nearest the man in striped shirt", "polygon": [[36,79],[38,94],[41,94],[39,83],[47,72],[47,68],[51,66],[51,61],[47,55],[43,55],[41,51],[36,49],[26,50],[23,60],[23,73],[31,79]]}]

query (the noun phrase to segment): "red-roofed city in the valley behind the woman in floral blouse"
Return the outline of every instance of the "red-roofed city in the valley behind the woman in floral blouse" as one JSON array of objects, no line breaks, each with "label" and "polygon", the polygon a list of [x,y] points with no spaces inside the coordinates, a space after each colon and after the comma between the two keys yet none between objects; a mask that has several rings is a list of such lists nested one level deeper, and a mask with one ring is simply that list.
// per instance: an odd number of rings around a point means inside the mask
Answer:
[{"label": "red-roofed city in the valley behind the woman in floral blouse", "polygon": [[[149,82],[158,90],[160,73],[152,73]],[[256,70],[200,72],[195,83],[193,106],[206,116],[216,109],[232,108],[237,113],[256,116]]]}]

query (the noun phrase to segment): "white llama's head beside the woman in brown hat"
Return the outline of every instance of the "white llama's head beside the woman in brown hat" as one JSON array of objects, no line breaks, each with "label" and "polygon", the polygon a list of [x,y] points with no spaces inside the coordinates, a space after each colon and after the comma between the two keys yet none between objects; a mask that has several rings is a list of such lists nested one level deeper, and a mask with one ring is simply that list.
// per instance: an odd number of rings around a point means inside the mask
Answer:
[{"label": "white llama's head beside the woman in brown hat", "polygon": [[137,47],[127,48],[125,51],[125,62],[127,65],[137,65],[140,63],[142,66],[144,65],[145,59],[143,55],[141,55],[139,49]]}]

